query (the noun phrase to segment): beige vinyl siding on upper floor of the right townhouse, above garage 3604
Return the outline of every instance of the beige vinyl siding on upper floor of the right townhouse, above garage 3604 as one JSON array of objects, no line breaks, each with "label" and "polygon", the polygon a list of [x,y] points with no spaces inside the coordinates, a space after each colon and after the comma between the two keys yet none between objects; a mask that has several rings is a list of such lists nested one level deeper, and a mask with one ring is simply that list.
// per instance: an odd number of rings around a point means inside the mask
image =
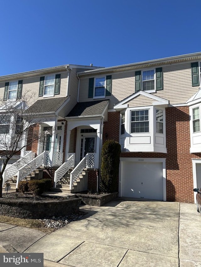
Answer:
[{"label": "beige vinyl siding on upper floor of the right townhouse, above garage 3604", "polygon": [[[156,67],[159,66],[151,67],[149,69],[155,69]],[[162,67],[163,70],[163,90],[157,91],[152,95],[169,100],[171,105],[176,105],[185,104],[186,101],[198,91],[199,87],[192,86],[191,61],[160,65],[160,67]],[[146,69],[148,70],[148,68]],[[145,69],[135,70],[143,71]],[[108,106],[109,110],[113,109],[113,106],[119,101],[122,101],[126,97],[135,93],[135,70],[107,74],[112,75],[112,95],[106,97],[106,99],[110,99]],[[89,78],[89,76],[80,77],[80,102],[93,101],[93,98],[88,98]],[[150,102],[150,100],[148,100],[148,102],[146,100],[146,103],[144,101],[145,99],[140,97],[134,99],[132,105],[144,106]]]}]

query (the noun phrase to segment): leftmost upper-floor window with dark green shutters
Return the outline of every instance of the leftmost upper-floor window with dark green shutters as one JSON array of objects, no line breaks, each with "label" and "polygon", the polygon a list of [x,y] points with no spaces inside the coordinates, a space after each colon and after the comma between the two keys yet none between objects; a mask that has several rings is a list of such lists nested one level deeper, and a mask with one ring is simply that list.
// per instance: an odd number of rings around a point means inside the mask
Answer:
[{"label": "leftmost upper-floor window with dark green shutters", "polygon": [[20,98],[21,91],[22,91],[22,80],[6,82],[3,100],[6,101],[8,99],[12,100],[12,99]]}]

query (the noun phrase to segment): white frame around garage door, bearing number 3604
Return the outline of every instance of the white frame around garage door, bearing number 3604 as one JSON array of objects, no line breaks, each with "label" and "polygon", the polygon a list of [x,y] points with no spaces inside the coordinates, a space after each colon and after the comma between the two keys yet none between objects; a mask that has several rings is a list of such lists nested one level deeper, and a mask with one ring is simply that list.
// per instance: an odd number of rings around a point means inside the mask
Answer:
[{"label": "white frame around garage door, bearing number 3604", "polygon": [[120,157],[119,165],[119,197],[122,197],[123,192],[123,162],[139,162],[139,159],[143,162],[162,162],[163,164],[163,201],[166,201],[166,158],[143,158],[143,157]]}]

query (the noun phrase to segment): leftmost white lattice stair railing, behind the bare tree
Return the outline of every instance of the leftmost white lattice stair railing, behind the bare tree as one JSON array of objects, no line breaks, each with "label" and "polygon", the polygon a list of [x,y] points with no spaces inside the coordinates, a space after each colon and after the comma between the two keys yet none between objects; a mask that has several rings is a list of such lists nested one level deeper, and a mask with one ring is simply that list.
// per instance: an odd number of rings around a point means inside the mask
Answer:
[{"label": "leftmost white lattice stair railing, behind the bare tree", "polygon": [[8,166],[3,172],[3,184],[8,181],[11,177],[17,174],[19,168],[23,167],[25,164],[30,162],[35,157],[35,153],[32,151],[27,151],[24,157],[20,158],[18,161],[14,162],[11,166]]}]

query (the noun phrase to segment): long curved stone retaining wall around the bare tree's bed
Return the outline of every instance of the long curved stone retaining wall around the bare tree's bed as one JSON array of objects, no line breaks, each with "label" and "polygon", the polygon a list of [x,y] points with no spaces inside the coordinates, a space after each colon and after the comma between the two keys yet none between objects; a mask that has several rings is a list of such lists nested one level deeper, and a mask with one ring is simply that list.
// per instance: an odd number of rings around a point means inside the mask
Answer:
[{"label": "long curved stone retaining wall around the bare tree's bed", "polygon": [[81,199],[20,200],[0,198],[0,215],[23,219],[43,219],[79,212]]}]

